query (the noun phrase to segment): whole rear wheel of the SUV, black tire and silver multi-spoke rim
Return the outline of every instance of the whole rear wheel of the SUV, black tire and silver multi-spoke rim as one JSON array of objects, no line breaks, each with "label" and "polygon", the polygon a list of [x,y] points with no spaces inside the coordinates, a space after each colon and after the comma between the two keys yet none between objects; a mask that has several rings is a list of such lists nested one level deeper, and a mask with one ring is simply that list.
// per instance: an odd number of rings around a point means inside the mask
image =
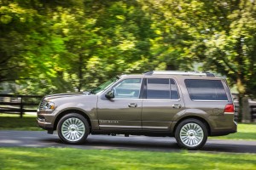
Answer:
[{"label": "whole rear wheel of the SUV, black tire and silver multi-spoke rim", "polygon": [[175,139],[177,144],[187,150],[198,150],[207,142],[206,125],[197,119],[186,119],[177,125]]}]

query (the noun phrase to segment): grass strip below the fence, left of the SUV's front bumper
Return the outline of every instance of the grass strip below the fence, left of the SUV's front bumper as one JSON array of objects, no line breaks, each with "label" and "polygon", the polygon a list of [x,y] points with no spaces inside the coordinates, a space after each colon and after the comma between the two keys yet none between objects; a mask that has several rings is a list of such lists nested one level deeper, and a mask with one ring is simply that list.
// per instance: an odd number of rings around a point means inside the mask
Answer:
[{"label": "grass strip below the fence, left of the SUV's front bumper", "polygon": [[20,118],[15,114],[0,114],[0,130],[34,130],[38,131],[36,116],[24,115]]}]

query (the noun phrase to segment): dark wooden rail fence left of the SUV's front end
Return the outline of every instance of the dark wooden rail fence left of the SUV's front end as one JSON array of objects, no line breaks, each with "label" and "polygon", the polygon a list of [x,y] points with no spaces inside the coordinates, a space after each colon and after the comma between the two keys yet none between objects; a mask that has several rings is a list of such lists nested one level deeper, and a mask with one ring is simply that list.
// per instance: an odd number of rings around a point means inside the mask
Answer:
[{"label": "dark wooden rail fence left of the SUV's front end", "polygon": [[0,94],[0,112],[9,114],[20,114],[25,112],[37,112],[37,106],[43,96],[38,95],[15,95]]}]

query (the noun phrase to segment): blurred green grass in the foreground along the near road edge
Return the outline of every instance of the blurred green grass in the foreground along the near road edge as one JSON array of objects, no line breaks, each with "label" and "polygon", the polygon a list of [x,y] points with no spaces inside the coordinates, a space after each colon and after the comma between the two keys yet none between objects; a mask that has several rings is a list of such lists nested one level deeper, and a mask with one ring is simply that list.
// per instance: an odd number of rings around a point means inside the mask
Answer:
[{"label": "blurred green grass in the foreground along the near road edge", "polygon": [[256,169],[255,154],[0,148],[0,169]]}]

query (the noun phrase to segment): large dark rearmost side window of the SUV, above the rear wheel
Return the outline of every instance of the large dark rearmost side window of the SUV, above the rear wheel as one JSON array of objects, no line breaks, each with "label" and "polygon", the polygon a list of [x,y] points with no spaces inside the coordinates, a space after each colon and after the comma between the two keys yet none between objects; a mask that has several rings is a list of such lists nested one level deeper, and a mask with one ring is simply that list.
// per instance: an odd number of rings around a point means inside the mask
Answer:
[{"label": "large dark rearmost side window of the SUV, above the rear wheel", "polygon": [[185,80],[192,100],[228,100],[220,80]]}]

